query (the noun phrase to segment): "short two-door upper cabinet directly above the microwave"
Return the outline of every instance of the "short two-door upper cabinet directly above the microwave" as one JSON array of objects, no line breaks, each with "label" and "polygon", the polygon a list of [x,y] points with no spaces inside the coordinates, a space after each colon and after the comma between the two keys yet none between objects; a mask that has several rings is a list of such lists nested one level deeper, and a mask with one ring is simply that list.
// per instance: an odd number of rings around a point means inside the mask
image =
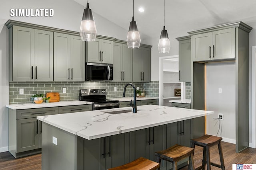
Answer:
[{"label": "short two-door upper cabinet directly above the microwave", "polygon": [[86,62],[114,63],[114,43],[111,40],[98,39],[86,43]]}]

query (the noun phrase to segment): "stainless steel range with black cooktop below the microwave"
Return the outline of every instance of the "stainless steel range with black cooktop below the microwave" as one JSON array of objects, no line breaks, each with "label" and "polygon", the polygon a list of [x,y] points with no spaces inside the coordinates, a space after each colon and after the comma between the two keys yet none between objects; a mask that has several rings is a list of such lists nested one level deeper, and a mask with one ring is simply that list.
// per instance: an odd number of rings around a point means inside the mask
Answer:
[{"label": "stainless steel range with black cooktop below the microwave", "polygon": [[92,102],[93,110],[118,108],[118,100],[106,99],[106,89],[81,89],[79,100]]}]

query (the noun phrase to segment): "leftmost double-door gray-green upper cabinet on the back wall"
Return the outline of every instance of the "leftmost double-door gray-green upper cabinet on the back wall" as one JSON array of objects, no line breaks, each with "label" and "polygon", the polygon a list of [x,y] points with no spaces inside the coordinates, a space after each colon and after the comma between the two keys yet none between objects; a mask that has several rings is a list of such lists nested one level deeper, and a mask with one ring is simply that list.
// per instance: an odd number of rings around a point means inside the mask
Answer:
[{"label": "leftmost double-door gray-green upper cabinet on the back wall", "polygon": [[10,80],[53,81],[52,42],[51,31],[10,27]]}]

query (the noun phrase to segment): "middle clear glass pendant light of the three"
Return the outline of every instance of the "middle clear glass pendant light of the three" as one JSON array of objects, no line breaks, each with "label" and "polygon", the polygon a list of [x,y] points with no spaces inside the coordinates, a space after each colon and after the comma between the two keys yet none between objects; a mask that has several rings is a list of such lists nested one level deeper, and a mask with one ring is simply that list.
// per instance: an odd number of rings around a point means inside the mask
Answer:
[{"label": "middle clear glass pendant light of the three", "polygon": [[140,32],[138,31],[136,21],[134,21],[134,0],[132,10],[132,21],[126,39],[128,48],[136,49],[140,47]]}]

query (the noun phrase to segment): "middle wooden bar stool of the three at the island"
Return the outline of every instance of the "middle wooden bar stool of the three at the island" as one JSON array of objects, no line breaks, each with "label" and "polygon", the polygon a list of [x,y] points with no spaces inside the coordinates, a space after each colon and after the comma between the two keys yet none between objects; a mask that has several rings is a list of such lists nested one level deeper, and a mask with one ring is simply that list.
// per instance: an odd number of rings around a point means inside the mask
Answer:
[{"label": "middle wooden bar stool of the three at the island", "polygon": [[[172,170],[177,170],[177,162],[187,157],[189,157],[188,169],[194,170],[193,154],[194,148],[184,147],[181,145],[174,145],[166,150],[155,152],[157,162],[159,164],[161,164],[161,160],[172,162]],[[158,170],[160,170],[160,168],[158,168]]]}]

